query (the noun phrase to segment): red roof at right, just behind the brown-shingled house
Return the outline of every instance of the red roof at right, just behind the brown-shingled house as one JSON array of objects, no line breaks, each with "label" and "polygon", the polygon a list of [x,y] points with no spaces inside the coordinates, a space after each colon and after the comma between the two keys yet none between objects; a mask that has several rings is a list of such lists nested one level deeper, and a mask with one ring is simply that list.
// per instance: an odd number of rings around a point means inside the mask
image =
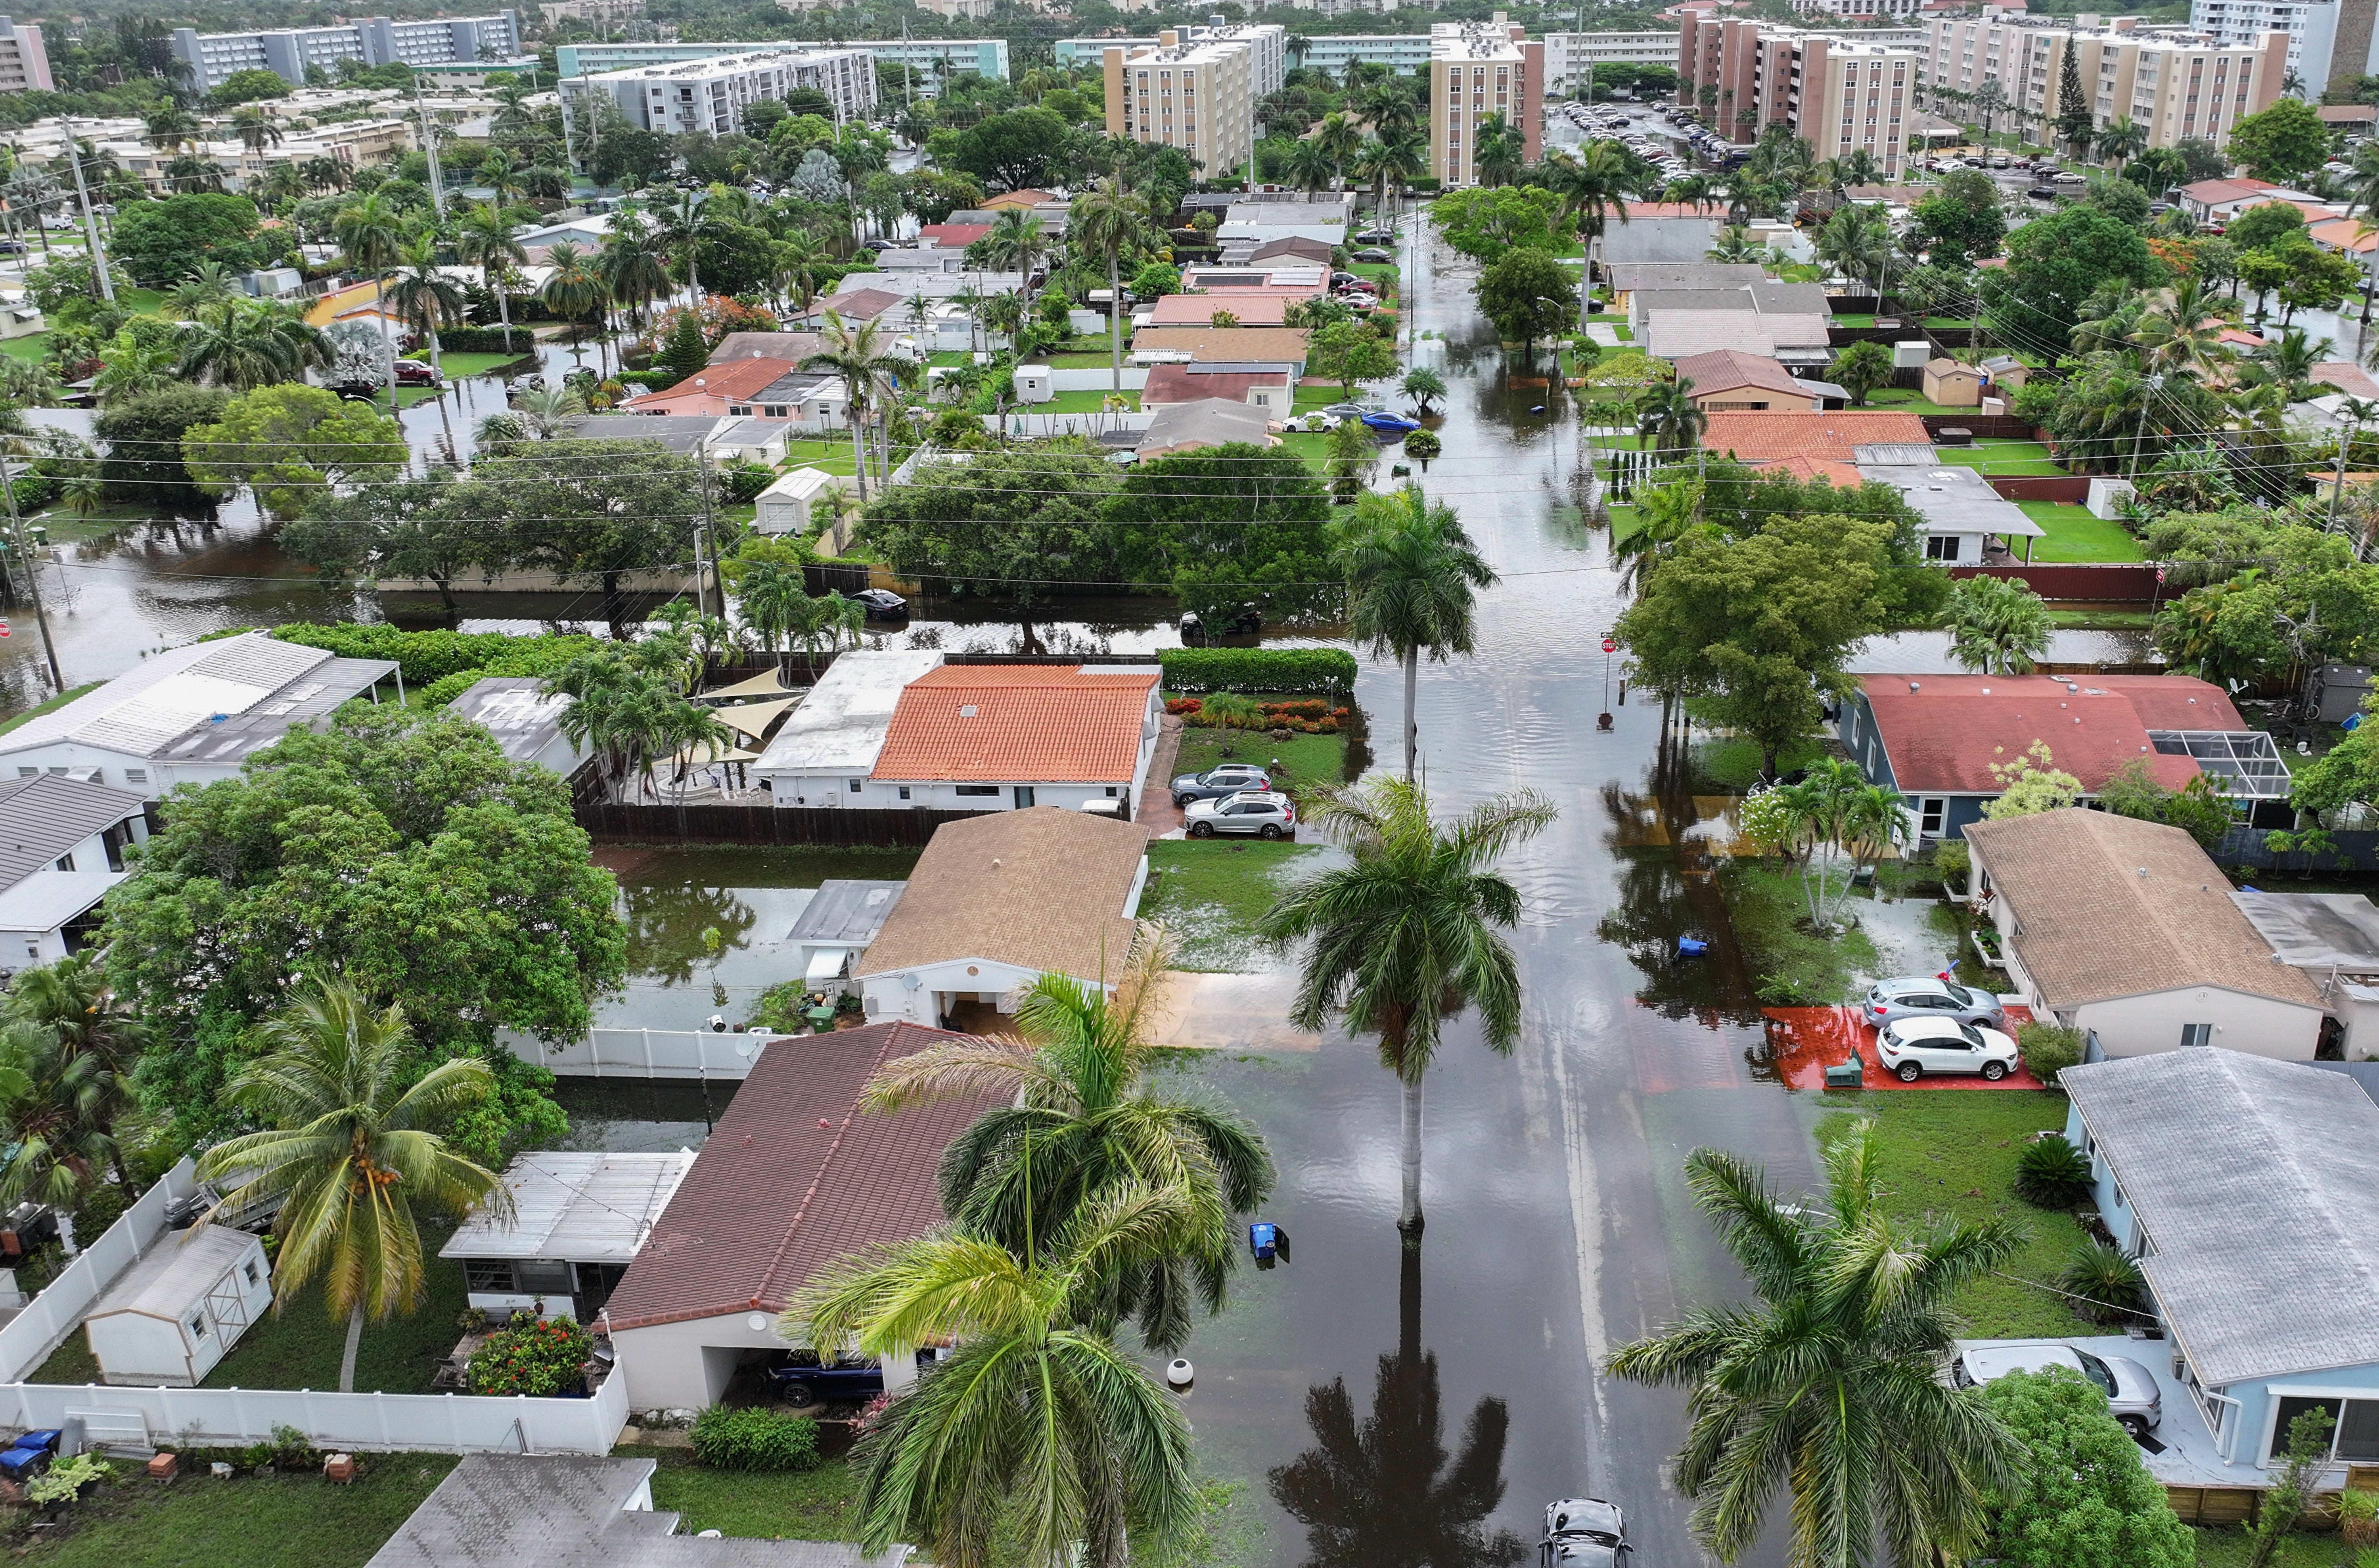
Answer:
[{"label": "red roof at right, just behind the brown-shingled house", "polygon": [[1906,795],[1998,795],[1991,764],[2017,761],[2034,740],[2084,792],[2134,759],[2177,790],[2198,764],[2151,749],[2148,730],[2246,728],[2222,688],[2193,676],[2077,676],[2079,692],[2048,676],[1863,676],[1860,685]]}]

